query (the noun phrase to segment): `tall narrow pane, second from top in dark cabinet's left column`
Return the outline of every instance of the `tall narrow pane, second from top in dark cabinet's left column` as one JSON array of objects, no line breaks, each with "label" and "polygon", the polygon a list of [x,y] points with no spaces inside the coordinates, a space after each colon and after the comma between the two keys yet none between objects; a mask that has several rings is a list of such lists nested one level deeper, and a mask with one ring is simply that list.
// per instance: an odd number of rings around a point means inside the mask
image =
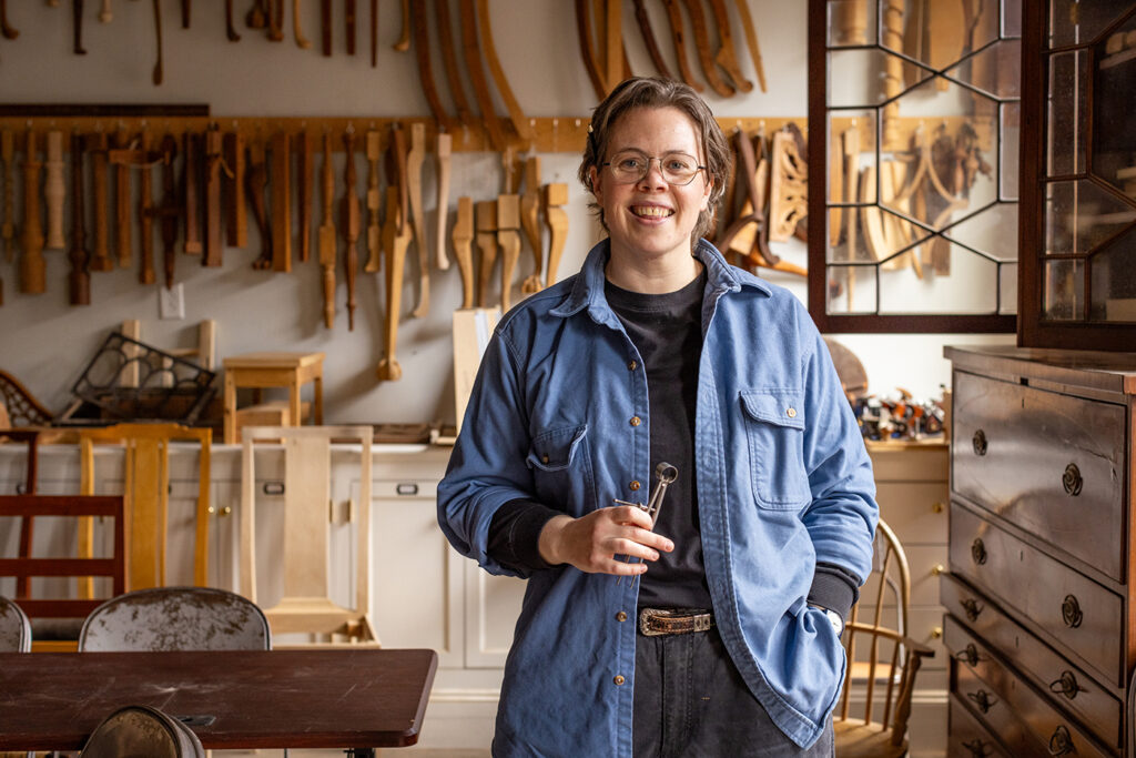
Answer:
[{"label": "tall narrow pane, second from top in dark cabinet's left column", "polygon": [[1047,155],[1050,176],[1085,170],[1087,123],[1085,51],[1062,52],[1050,58]]}]

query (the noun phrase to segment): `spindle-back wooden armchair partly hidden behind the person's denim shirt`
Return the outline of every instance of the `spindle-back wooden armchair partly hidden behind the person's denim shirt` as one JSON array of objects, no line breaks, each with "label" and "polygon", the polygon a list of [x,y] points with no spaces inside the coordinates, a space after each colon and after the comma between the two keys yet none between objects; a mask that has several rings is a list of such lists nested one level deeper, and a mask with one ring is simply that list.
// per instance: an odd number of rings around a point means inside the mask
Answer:
[{"label": "spindle-back wooden armchair partly hidden behind the person's denim shirt", "polygon": [[[840,758],[894,758],[908,753],[908,719],[916,674],[934,651],[907,636],[911,574],[895,533],[876,530],[871,576],[844,628],[849,667],[833,715]],[[857,691],[853,707],[852,693]],[[862,702],[860,698],[862,695]]]}]

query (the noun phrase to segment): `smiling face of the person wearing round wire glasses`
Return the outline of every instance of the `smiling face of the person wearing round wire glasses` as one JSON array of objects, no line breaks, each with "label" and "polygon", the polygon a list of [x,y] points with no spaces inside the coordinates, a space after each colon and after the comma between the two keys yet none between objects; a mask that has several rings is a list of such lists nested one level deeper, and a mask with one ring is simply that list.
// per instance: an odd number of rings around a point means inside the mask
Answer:
[{"label": "smiling face of the person wearing round wire glasses", "polygon": [[710,202],[710,180],[707,172],[699,170],[685,186],[670,184],[655,158],[686,153],[696,159],[696,165],[704,165],[694,122],[671,107],[629,110],[611,126],[601,163],[628,150],[650,158],[643,178],[624,184],[611,166],[592,168],[592,191],[603,208],[612,257],[688,257],[699,214]]}]

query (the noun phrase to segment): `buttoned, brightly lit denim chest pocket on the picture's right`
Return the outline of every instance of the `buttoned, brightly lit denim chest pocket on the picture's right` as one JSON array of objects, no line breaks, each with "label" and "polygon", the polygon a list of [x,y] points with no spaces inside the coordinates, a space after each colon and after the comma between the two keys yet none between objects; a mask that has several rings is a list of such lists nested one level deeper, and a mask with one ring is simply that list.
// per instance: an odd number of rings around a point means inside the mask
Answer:
[{"label": "buttoned, brightly lit denim chest pocket on the picture's right", "polygon": [[741,393],[741,405],[758,505],[777,510],[804,507],[812,498],[804,468],[804,393],[751,390]]}]

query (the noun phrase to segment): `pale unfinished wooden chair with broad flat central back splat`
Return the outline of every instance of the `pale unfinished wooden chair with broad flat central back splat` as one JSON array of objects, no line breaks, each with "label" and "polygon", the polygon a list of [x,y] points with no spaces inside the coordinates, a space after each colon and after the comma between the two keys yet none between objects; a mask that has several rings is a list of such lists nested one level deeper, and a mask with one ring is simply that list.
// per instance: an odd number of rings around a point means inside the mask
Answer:
[{"label": "pale unfinished wooden chair with broad flat central back splat", "polygon": [[[321,642],[377,643],[370,622],[370,426],[247,426],[242,430],[241,594],[257,602],[256,472],[257,440],[283,441],[284,539],[274,568],[283,574],[279,602],[265,608],[276,635],[303,633]],[[348,522],[357,531],[354,607],[329,597],[329,522],[332,440],[358,442],[359,501]]]}]

